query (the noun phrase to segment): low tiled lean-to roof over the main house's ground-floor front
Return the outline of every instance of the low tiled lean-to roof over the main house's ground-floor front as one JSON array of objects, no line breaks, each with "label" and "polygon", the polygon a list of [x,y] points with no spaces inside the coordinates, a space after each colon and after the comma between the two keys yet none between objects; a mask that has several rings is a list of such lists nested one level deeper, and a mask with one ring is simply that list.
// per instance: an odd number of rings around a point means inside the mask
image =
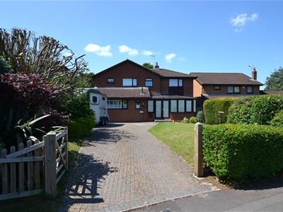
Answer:
[{"label": "low tiled lean-to roof over the main house's ground-floor front", "polygon": [[97,88],[108,98],[150,98],[149,88]]}]

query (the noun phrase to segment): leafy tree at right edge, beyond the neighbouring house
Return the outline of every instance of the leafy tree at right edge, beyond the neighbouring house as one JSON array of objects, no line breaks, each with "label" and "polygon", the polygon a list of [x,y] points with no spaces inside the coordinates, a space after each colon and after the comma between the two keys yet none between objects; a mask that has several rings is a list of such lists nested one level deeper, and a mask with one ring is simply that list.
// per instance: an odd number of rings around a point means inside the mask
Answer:
[{"label": "leafy tree at right edge, beyond the neighbouring house", "polygon": [[266,90],[283,90],[283,68],[279,68],[266,78]]}]

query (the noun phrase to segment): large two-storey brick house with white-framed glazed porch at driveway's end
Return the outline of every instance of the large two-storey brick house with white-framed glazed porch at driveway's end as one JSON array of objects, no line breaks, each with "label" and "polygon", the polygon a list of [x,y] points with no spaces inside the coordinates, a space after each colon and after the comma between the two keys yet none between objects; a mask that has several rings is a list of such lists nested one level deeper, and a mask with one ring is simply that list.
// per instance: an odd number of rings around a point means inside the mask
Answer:
[{"label": "large two-storey brick house with white-framed glazed porch at driveway's end", "polygon": [[129,59],[93,76],[95,86],[108,96],[111,122],[180,121],[195,116],[193,80],[196,76],[146,69]]}]

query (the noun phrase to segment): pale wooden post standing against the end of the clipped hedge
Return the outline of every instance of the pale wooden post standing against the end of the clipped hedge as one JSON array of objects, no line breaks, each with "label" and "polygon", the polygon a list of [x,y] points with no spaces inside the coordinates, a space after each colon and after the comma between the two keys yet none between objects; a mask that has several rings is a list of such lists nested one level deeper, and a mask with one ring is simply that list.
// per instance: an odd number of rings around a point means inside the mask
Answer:
[{"label": "pale wooden post standing against the end of the clipped hedge", "polygon": [[195,176],[203,176],[202,124],[195,124]]}]

